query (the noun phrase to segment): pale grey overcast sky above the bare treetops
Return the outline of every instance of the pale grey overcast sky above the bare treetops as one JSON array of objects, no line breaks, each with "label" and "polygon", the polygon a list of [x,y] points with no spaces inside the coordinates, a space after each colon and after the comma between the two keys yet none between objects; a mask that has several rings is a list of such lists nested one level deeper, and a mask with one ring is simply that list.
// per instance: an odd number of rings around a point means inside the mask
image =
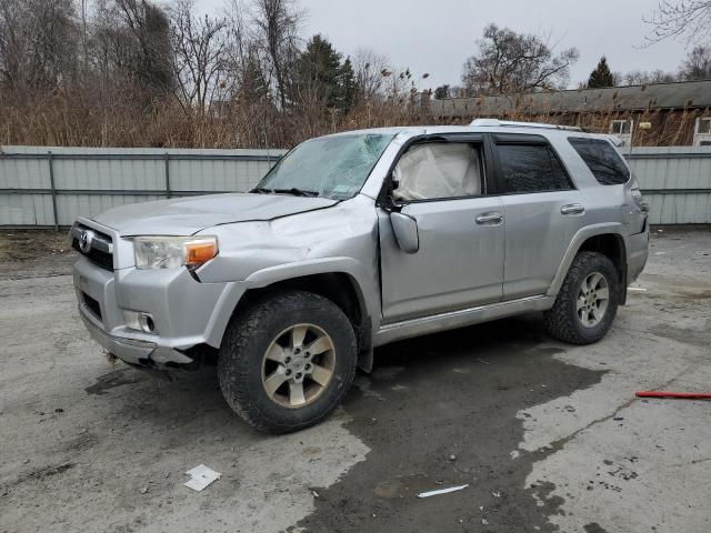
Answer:
[{"label": "pale grey overcast sky above the bare treetops", "polygon": [[[201,11],[218,12],[223,0],[196,0]],[[577,47],[571,87],[587,81],[600,56],[613,71],[672,70],[687,54],[684,43],[665,41],[639,48],[657,0],[301,0],[308,10],[304,37],[322,33],[344,53],[371,48],[417,76],[429,72],[421,89],[459,84],[464,60],[489,22],[519,32],[552,34],[557,49]]]}]

